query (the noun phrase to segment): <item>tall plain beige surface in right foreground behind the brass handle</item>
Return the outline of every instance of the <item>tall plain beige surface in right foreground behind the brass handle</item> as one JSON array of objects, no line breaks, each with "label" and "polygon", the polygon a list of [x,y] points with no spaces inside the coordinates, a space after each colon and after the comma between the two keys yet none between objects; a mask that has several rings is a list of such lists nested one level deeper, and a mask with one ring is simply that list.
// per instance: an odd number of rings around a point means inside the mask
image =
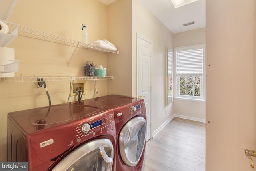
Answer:
[{"label": "tall plain beige surface in right foreground behind the brass handle", "polygon": [[255,117],[255,0],[206,0],[206,171],[253,170]]}]

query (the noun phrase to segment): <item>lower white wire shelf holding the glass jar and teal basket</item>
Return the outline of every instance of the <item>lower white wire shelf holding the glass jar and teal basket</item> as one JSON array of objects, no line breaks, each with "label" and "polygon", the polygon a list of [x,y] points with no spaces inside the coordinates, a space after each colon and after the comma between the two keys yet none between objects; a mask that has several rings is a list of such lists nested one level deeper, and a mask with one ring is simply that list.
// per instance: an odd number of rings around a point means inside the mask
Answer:
[{"label": "lower white wire shelf holding the glass jar and teal basket", "polygon": [[86,80],[113,80],[114,76],[106,76],[106,77],[74,77],[74,76],[66,76],[66,77],[0,77],[0,83],[13,83],[13,82],[38,82],[38,80],[44,79],[46,82],[57,82],[57,81],[86,81]]}]

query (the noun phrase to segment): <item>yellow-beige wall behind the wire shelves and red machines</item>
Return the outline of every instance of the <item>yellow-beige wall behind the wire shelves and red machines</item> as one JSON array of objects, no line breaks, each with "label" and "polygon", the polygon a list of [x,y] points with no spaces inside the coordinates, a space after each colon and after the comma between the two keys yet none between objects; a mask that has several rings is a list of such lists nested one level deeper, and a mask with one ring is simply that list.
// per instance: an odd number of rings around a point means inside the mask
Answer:
[{"label": "yellow-beige wall behind the wire shelves and red machines", "polygon": [[[85,23],[88,41],[107,38],[107,7],[97,0],[21,0],[8,21],[75,40],[81,40]],[[16,76],[83,76],[87,60],[107,65],[107,53],[79,48],[68,67],[74,47],[33,38],[18,36],[8,47],[15,48],[15,59],[20,60]],[[67,102],[70,82],[46,82],[46,86],[52,104]],[[99,96],[107,94],[106,80],[99,80],[97,86]],[[94,82],[86,81],[86,94],[82,99],[92,98],[93,90]],[[70,98],[70,101],[75,100],[77,98]],[[36,82],[1,83],[0,101],[0,161],[6,161],[7,113],[46,106],[48,98],[43,88],[36,88]]]}]

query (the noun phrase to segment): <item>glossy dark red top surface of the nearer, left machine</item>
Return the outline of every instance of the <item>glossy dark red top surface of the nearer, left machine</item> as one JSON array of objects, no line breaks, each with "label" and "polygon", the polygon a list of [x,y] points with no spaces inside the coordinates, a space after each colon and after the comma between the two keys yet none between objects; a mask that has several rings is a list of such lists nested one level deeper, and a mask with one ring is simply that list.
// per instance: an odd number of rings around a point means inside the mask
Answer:
[{"label": "glossy dark red top surface of the nearer, left machine", "polygon": [[102,111],[109,110],[105,107],[95,107],[84,102],[70,102],[23,111],[8,113],[8,117],[25,134],[47,129],[58,124],[67,123],[81,117],[88,117]]}]

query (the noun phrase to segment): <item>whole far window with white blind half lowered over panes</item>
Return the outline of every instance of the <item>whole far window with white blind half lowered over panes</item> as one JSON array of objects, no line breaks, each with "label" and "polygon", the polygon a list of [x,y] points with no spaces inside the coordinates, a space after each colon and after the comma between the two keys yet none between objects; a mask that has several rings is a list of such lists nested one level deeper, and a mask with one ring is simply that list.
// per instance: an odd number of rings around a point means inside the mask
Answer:
[{"label": "whole far window with white blind half lowered over panes", "polygon": [[204,44],[174,48],[177,97],[204,99]]}]

